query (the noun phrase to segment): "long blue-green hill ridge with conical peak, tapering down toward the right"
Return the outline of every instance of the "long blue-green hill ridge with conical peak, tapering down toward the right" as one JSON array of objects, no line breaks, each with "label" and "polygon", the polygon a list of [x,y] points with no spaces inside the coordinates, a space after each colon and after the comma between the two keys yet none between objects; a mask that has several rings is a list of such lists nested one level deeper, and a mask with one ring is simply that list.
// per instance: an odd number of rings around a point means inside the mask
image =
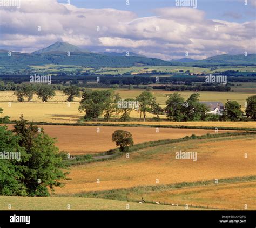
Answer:
[{"label": "long blue-green hill ridge with conical peak, tapering down toward the right", "polygon": [[[94,53],[83,51],[82,49],[62,42],[56,42],[44,49],[33,53],[11,52],[0,50],[0,66],[22,66],[29,65],[83,65],[83,66],[171,66],[172,63],[156,59],[139,56],[135,53],[126,56],[126,53]],[[68,56],[67,52],[70,52]],[[134,56],[133,56],[134,54]]]}]

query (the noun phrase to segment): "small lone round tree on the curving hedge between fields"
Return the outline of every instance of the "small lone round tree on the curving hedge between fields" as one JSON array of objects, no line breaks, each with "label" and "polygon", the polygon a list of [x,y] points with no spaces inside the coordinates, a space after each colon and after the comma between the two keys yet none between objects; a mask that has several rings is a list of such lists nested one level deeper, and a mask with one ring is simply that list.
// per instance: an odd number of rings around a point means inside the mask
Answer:
[{"label": "small lone round tree on the curving hedge between fields", "polygon": [[117,130],[112,134],[112,141],[120,146],[120,151],[129,151],[129,146],[133,146],[132,134],[128,131]]}]

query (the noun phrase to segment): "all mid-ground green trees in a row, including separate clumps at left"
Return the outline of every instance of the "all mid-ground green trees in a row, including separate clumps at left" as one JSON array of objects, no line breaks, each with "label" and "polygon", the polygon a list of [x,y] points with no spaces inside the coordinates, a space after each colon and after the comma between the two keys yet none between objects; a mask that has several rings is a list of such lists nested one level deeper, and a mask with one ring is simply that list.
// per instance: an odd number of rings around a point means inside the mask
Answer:
[{"label": "all mid-ground green trees in a row, including separate clumps at left", "polygon": [[[131,88],[130,88],[131,87]],[[130,89],[132,86],[130,85]],[[221,86],[219,86],[221,87]],[[67,102],[72,102],[75,97],[80,97],[81,88],[77,86],[63,87],[63,92],[68,98]],[[85,112],[85,120],[97,120],[104,115],[104,119],[109,121],[117,119],[121,121],[130,120],[130,113],[134,109],[134,102],[138,102],[137,111],[140,113],[140,120],[146,120],[146,114],[152,113],[156,115],[153,120],[160,120],[160,115],[166,115],[169,120],[173,121],[228,121],[241,120],[243,112],[241,105],[236,101],[228,101],[225,104],[225,109],[222,115],[213,115],[208,113],[210,110],[205,104],[199,102],[200,95],[196,92],[188,99],[184,99],[180,94],[174,92],[169,95],[166,101],[166,107],[161,106],[156,102],[156,97],[149,91],[144,91],[136,97],[136,99],[122,99],[120,94],[115,93],[113,89],[109,90],[89,90],[83,89],[82,99],[79,105],[79,111]],[[48,99],[55,96],[53,87],[44,84],[24,84],[14,93],[19,102],[23,102],[26,97],[31,101],[33,95],[36,94],[42,102],[47,102]],[[256,119],[256,95],[247,98],[247,107],[245,115],[247,118]],[[128,105],[118,105],[118,102]]]}]

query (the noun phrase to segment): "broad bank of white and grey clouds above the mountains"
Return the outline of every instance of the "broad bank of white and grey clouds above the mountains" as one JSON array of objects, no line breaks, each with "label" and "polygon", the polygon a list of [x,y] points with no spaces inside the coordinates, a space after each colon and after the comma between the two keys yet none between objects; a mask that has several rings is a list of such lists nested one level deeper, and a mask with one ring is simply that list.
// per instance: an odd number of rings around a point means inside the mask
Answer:
[{"label": "broad bank of white and grey clouds above the mountains", "polygon": [[118,49],[165,60],[183,58],[185,52],[196,59],[255,52],[255,21],[207,20],[204,11],[192,8],[154,12],[156,16],[139,18],[130,11],[22,0],[21,9],[0,8],[0,47],[32,52],[64,41],[95,51]]}]

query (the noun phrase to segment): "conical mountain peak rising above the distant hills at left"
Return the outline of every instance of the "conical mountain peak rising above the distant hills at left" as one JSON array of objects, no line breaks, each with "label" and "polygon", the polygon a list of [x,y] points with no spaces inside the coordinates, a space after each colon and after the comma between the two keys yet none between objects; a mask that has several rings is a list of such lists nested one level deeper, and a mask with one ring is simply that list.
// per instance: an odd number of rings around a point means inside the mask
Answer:
[{"label": "conical mountain peak rising above the distant hills at left", "polygon": [[57,41],[46,48],[33,52],[33,54],[42,54],[47,52],[83,52],[83,50],[67,42]]}]

